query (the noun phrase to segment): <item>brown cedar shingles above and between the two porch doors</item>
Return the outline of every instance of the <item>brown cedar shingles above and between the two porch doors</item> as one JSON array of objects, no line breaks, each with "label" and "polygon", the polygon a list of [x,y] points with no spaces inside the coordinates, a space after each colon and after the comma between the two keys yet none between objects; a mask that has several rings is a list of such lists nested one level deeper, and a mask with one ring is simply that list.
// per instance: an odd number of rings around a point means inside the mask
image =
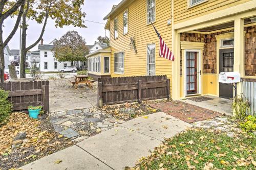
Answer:
[{"label": "brown cedar shingles above and between the two porch doors", "polygon": [[[181,41],[205,42],[203,50],[203,73],[217,73],[217,41],[215,36],[233,32],[233,30],[222,31],[212,34],[181,33]],[[182,71],[181,71],[182,72]]]}]

